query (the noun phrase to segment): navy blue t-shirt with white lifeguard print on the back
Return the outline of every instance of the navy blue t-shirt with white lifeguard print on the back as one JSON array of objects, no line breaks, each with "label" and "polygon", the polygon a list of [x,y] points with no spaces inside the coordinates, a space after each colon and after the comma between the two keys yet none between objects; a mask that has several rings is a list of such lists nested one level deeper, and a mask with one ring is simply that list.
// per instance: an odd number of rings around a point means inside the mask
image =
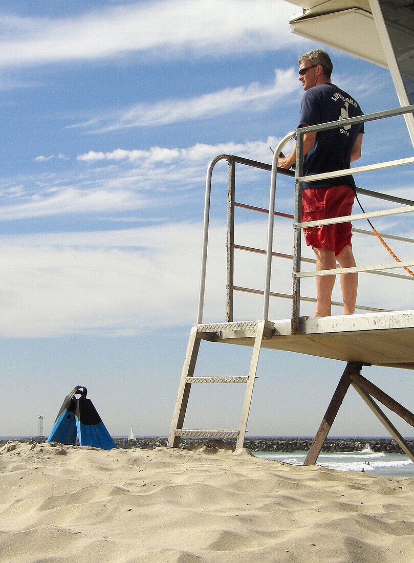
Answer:
[{"label": "navy blue t-shirt with white lifeguard print on the back", "polygon": [[[348,93],[335,84],[319,84],[319,86],[309,88],[302,98],[298,128],[358,115],[363,115],[359,104]],[[350,168],[351,150],[357,136],[363,132],[363,123],[329,131],[319,131],[312,148],[304,158],[304,176]],[[354,178],[349,175],[316,182],[304,182],[303,189],[341,184],[348,184],[352,189],[355,188]]]}]

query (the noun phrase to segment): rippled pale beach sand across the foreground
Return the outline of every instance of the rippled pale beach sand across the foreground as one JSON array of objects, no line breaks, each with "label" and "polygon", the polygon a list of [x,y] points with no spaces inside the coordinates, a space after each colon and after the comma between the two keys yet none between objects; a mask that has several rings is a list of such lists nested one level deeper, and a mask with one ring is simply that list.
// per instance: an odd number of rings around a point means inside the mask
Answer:
[{"label": "rippled pale beach sand across the foreground", "polygon": [[414,561],[414,480],[244,450],[0,450],[0,561]]}]

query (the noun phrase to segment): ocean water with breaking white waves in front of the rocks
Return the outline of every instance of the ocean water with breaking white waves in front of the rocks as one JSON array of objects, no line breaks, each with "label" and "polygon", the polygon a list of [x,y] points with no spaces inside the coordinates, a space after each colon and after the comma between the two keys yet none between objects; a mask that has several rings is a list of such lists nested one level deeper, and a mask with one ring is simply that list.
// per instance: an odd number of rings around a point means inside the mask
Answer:
[{"label": "ocean water with breaking white waves in front of the rocks", "polygon": [[[254,452],[256,457],[302,465],[307,452]],[[367,446],[359,452],[320,453],[317,464],[339,471],[366,472],[378,477],[414,477],[414,463],[405,454],[373,452]]]}]

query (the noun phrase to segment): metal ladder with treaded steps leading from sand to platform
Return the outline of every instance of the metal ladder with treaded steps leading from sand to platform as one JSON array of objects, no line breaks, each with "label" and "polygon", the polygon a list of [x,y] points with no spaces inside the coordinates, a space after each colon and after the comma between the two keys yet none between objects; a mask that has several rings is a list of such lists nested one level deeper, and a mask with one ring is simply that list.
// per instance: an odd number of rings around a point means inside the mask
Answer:
[{"label": "metal ladder with treaded steps leading from sand to platform", "polygon": [[[274,324],[268,320],[244,321],[241,323],[194,324],[188,342],[184,366],[177,394],[177,400],[172,417],[170,435],[167,445],[177,448],[181,436],[208,438],[236,438],[236,449],[243,447],[247,430],[247,419],[252,401],[253,386],[255,384],[257,364],[259,363],[260,348],[264,338],[273,334]],[[253,354],[248,376],[203,376],[195,377],[194,370],[197,362],[199,347],[202,340],[220,341],[229,339],[249,339],[254,341]],[[246,342],[247,343],[247,342]],[[196,430],[184,428],[185,412],[188,405],[190,390],[195,383],[246,383],[246,393],[239,430]]]}]

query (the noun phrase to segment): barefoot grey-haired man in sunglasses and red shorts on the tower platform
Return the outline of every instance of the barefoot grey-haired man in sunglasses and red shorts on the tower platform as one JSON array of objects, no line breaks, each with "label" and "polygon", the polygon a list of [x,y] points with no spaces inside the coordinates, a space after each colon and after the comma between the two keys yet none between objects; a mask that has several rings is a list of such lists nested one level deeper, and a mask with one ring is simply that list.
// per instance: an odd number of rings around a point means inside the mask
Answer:
[{"label": "barefoot grey-haired man in sunglasses and red shorts on the tower platform", "polygon": [[[299,127],[328,123],[363,115],[359,104],[331,82],[332,61],[327,52],[309,51],[299,58],[299,80],[304,88]],[[363,124],[346,125],[304,135],[304,176],[350,168],[360,158]],[[278,166],[291,168],[296,162],[296,146],[288,157],[279,158]],[[354,178],[343,176],[328,180],[303,182],[302,221],[317,221],[351,215],[354,203]],[[306,244],[314,249],[316,269],[334,270],[354,267],[351,247],[351,223],[304,229]],[[317,304],[314,316],[331,315],[331,294],[335,276],[317,276]],[[353,315],[357,299],[358,274],[342,274],[341,289],[344,314]]]}]

